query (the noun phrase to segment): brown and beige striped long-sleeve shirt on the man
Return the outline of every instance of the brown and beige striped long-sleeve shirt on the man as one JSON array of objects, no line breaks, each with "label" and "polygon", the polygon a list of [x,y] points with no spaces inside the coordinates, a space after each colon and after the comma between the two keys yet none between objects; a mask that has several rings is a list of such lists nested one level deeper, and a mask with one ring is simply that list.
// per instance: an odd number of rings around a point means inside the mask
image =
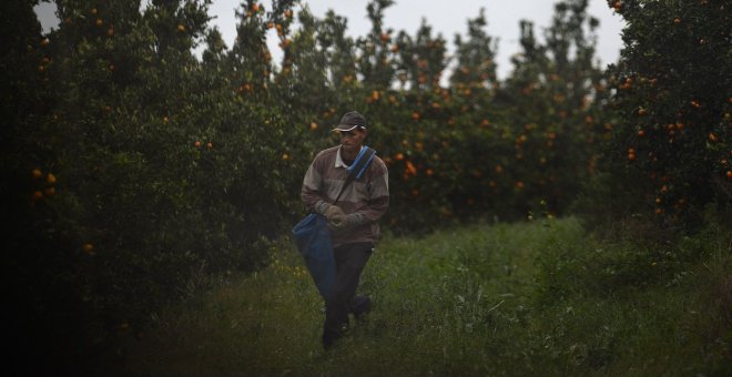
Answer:
[{"label": "brown and beige striped long-sleeve shirt on the man", "polygon": [[[319,152],[305,173],[301,196],[308,211],[324,214],[325,204],[334,204],[338,196],[348,174],[339,149],[338,145]],[[332,230],[333,247],[360,242],[376,244],[377,221],[389,206],[388,171],[384,161],[375,155],[362,177],[354,180],[335,204],[345,214],[355,214],[352,216],[355,221],[348,227]]]}]

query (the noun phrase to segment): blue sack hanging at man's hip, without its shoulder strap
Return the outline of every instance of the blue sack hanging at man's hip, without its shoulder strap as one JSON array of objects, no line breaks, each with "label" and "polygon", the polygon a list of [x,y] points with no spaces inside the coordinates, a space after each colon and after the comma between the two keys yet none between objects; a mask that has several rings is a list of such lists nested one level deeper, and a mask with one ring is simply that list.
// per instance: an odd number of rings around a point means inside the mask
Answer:
[{"label": "blue sack hanging at man's hip, without its shoulder strap", "polygon": [[333,243],[327,220],[311,213],[292,230],[297,249],[305,258],[305,265],[315,281],[321,296],[327,299],[336,281],[336,266]]}]

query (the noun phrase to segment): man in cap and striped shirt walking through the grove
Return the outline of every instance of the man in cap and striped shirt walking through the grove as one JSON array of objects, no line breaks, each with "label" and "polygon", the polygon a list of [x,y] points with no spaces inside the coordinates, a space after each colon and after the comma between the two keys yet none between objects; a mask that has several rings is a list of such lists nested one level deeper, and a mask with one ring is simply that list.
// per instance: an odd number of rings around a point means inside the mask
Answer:
[{"label": "man in cap and striped shirt walking through the grove", "polygon": [[360,179],[354,180],[334,203],[346,181],[346,169],[360,152],[368,130],[364,115],[352,111],[343,115],[333,131],[338,132],[340,144],[315,156],[302,188],[307,210],[328,221],[336,262],[336,283],[325,303],[323,346],[326,349],[343,336],[349,325],[349,313],[358,318],[370,310],[370,299],[355,294],[378,241],[377,221],[389,206],[388,171],[376,155]]}]

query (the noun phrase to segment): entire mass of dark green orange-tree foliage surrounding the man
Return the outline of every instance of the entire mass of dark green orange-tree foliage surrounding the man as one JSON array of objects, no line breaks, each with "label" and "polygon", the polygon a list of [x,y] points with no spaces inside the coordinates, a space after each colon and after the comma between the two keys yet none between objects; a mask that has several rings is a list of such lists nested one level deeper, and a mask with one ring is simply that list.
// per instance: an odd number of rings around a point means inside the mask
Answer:
[{"label": "entire mass of dark green orange-tree foliage surrounding the man", "polygon": [[21,355],[42,344],[72,369],[103,360],[192,282],[268,263],[304,212],[307,164],[350,110],[389,167],[393,232],[560,215],[598,170],[596,186],[638,190],[624,206],[587,196],[596,215],[650,198],[685,218],[729,202],[725,1],[611,2],[629,23],[607,75],[587,0],[559,1],[543,35],[521,22],[505,80],[482,11],[448,55],[427,21],[386,29],[390,0],[368,3],[372,30],[356,39],[334,12],[245,0],[231,47],[209,0],[55,3],[47,34],[33,1],[0,16],[3,286]]}]

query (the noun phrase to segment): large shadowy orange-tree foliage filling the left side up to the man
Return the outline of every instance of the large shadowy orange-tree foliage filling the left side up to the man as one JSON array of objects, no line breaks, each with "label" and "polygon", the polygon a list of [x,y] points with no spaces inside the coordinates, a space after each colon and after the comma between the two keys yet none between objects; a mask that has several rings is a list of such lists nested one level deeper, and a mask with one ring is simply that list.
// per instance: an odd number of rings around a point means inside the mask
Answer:
[{"label": "large shadowy orange-tree foliage filling the left side up to the man", "polygon": [[227,54],[206,1],[57,6],[48,35],[32,2],[3,6],[2,26],[23,32],[8,32],[2,60],[13,147],[1,166],[17,179],[2,186],[12,339],[20,354],[45,347],[55,363],[34,366],[59,373],[103,361],[108,340],[138,334],[192,282],[265,263],[303,166],[267,102],[266,51]]}]

